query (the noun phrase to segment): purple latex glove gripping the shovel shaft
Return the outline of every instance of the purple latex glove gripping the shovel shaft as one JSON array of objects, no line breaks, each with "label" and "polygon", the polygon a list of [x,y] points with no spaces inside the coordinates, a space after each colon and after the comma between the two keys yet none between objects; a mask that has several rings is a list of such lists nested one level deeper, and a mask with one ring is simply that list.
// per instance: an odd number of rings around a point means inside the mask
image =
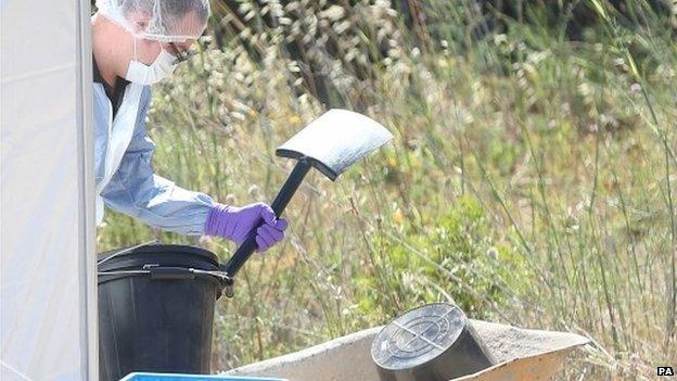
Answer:
[{"label": "purple latex glove gripping the shovel shaft", "polygon": [[278,218],[272,208],[263,202],[241,207],[217,203],[209,211],[204,232],[207,236],[231,240],[239,246],[247,238],[250,231],[258,227],[256,251],[263,253],[282,241],[288,225],[286,219]]}]

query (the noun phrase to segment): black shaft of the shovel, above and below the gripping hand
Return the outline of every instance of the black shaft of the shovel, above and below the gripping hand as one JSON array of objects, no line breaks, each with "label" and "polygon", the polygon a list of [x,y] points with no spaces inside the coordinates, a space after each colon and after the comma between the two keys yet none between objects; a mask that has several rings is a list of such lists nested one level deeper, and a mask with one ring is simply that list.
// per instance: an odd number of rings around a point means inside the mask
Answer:
[{"label": "black shaft of the shovel, above and below the gripping hand", "polygon": [[[304,158],[299,160],[296,163],[294,169],[286,178],[286,181],[284,182],[284,185],[280,189],[280,192],[270,205],[276,216],[280,217],[282,215],[282,212],[284,212],[286,204],[289,204],[289,202],[292,200],[292,196],[294,195],[294,193],[296,193],[296,189],[298,189],[298,186],[301,186],[301,182],[311,167],[312,166],[310,165],[310,163],[308,163],[308,161]],[[240,245],[240,247],[238,247],[238,251],[235,252],[235,254],[233,254],[232,257],[230,257],[228,263],[223,265],[223,271],[226,271],[231,279],[235,276],[235,274],[238,274],[240,268],[242,268],[242,266],[250,258],[252,253],[254,253],[254,251],[258,247],[258,245],[256,244],[257,228],[254,228],[252,229],[252,231],[250,231],[250,236],[247,237],[247,239]]]}]

